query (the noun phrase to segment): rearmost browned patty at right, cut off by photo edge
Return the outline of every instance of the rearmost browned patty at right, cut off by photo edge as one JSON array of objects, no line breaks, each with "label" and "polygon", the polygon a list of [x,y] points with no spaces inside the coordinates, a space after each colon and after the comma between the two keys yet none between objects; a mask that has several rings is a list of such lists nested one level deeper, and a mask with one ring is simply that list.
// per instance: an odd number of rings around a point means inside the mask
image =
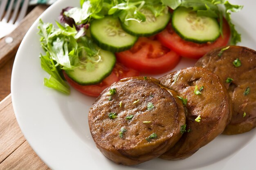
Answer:
[{"label": "rearmost browned patty at right, cut off by photo edge", "polygon": [[[240,66],[233,64],[237,59]],[[219,75],[228,89],[233,116],[223,134],[234,135],[252,130],[256,126],[256,51],[242,46],[219,48],[204,55],[195,66]],[[227,81],[228,78],[233,81]]]}]

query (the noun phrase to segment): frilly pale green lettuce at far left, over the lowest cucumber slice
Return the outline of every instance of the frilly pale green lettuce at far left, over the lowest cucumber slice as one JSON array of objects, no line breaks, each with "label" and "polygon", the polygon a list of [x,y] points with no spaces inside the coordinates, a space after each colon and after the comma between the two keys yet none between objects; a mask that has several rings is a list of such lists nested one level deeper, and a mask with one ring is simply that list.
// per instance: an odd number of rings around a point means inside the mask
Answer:
[{"label": "frilly pale green lettuce at far left, over the lowest cucumber slice", "polygon": [[85,30],[77,32],[74,26],[56,24],[58,27],[42,20],[38,23],[41,46],[46,51],[46,55],[41,55],[41,67],[50,74],[49,79],[44,79],[44,84],[69,94],[70,87],[62,79],[62,70],[83,67],[93,71],[101,57],[92,40],[81,37]]}]

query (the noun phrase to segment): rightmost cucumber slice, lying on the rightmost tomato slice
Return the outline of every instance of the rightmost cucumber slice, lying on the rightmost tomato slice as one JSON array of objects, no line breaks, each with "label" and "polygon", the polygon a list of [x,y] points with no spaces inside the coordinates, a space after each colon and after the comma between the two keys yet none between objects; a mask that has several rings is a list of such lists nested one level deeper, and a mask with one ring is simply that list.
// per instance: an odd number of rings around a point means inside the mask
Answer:
[{"label": "rightmost cucumber slice, lying on the rightmost tomato slice", "polygon": [[220,26],[216,19],[197,16],[185,7],[173,11],[172,25],[175,32],[186,41],[213,42],[220,36]]}]

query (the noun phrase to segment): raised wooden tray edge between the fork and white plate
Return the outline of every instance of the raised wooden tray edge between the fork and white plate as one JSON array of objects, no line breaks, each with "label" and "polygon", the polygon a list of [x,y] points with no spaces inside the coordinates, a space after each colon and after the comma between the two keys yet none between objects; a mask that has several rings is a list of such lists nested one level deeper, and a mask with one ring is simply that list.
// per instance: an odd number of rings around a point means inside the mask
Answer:
[{"label": "raised wooden tray edge between the fork and white plate", "polygon": [[[33,22],[47,9],[46,5],[36,6],[18,25],[18,27],[6,37],[0,40],[0,68],[16,55],[20,42],[24,38]],[[13,42],[7,44],[5,38],[13,38]]]}]

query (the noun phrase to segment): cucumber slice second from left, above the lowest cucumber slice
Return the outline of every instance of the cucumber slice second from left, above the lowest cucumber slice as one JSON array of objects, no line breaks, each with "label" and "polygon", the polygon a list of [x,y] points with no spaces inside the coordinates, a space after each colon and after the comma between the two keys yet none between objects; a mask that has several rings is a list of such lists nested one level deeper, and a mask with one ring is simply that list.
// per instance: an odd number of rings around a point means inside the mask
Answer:
[{"label": "cucumber slice second from left, above the lowest cucumber slice", "polygon": [[90,31],[92,39],[101,49],[113,53],[130,49],[137,41],[137,37],[126,33],[119,19],[112,16],[92,21]]}]

